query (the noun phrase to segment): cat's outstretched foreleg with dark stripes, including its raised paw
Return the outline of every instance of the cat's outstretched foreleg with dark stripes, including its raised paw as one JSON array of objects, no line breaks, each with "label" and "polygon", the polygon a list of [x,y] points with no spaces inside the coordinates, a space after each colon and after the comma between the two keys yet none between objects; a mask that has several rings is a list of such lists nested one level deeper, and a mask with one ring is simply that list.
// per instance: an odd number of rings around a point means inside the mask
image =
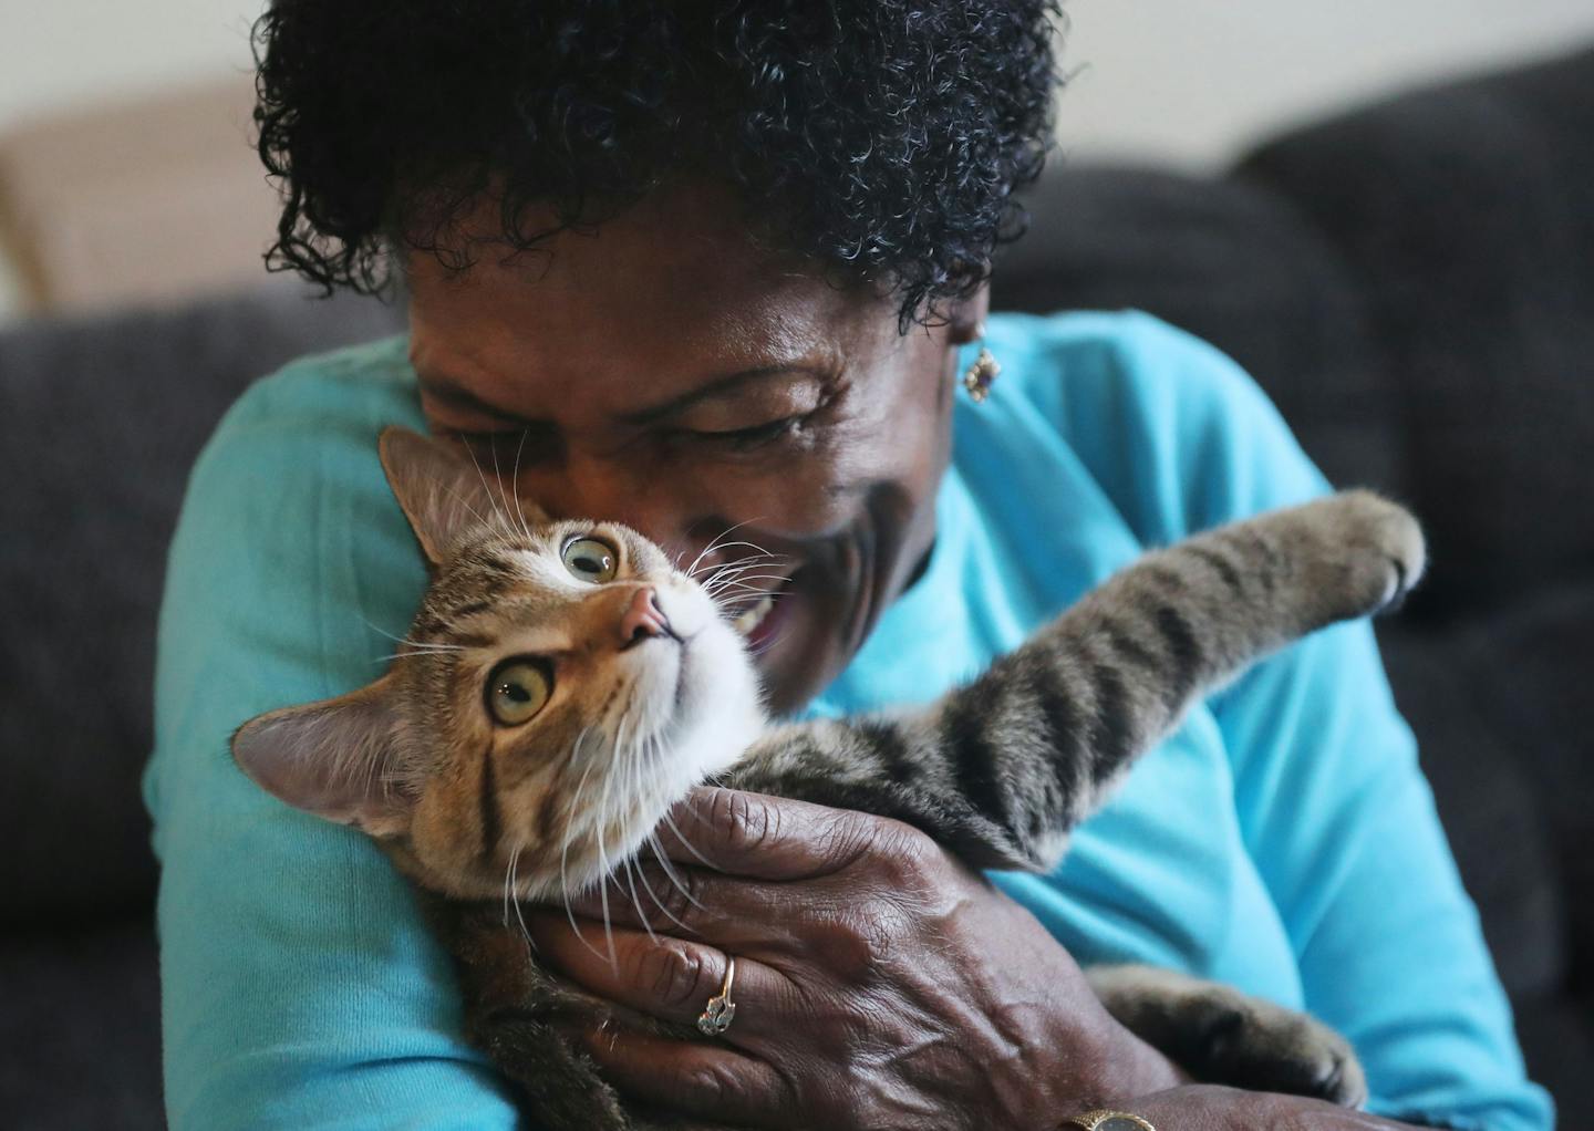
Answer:
[{"label": "cat's outstretched foreleg with dark stripes, including its raised paw", "polygon": [[725,784],[899,817],[969,863],[1044,871],[1192,702],[1396,604],[1422,569],[1417,524],[1369,492],[1221,527],[1148,554],[926,710],[773,730]]}]

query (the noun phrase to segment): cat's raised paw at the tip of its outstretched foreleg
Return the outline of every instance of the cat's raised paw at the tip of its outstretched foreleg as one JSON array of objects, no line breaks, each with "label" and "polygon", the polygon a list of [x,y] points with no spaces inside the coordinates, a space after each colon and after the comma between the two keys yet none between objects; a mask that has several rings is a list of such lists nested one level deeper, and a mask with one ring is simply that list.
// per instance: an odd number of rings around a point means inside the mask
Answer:
[{"label": "cat's raised paw at the tip of its outstretched foreleg", "polygon": [[1345,491],[1315,507],[1345,596],[1358,615],[1393,612],[1428,564],[1422,527],[1411,511],[1371,491]]}]

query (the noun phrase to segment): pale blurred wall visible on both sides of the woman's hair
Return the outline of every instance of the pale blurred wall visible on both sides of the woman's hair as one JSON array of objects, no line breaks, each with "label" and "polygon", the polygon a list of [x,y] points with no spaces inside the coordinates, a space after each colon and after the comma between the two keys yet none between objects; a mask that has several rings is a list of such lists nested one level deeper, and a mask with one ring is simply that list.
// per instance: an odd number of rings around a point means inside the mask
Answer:
[{"label": "pale blurred wall visible on both sides of the woman's hair", "polygon": [[[0,0],[0,134],[249,68],[260,0]],[[1594,0],[1071,0],[1074,159],[1223,164],[1347,102],[1594,40]],[[0,264],[0,319],[10,284]]]}]

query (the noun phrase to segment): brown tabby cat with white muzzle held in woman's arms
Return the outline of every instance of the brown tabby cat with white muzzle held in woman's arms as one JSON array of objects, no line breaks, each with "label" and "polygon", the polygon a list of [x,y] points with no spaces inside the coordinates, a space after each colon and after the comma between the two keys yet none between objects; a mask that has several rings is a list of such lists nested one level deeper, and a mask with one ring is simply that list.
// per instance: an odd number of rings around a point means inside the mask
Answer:
[{"label": "brown tabby cat with white muzzle held in woman's arms", "polygon": [[[703,782],[896,817],[976,867],[1049,870],[1192,701],[1388,607],[1423,567],[1406,511],[1342,494],[1148,554],[925,709],[770,725],[738,634],[767,599],[717,604],[633,530],[526,515],[413,432],[384,432],[381,456],[432,567],[410,636],[375,683],[260,715],[233,752],[284,801],[373,836],[427,894],[472,1039],[552,1131],[665,1125],[626,1112],[548,1024],[607,1007],[539,970],[510,895],[599,884]],[[1196,1078],[1364,1094],[1350,1047],[1310,1018],[1164,970],[1089,975]]]}]

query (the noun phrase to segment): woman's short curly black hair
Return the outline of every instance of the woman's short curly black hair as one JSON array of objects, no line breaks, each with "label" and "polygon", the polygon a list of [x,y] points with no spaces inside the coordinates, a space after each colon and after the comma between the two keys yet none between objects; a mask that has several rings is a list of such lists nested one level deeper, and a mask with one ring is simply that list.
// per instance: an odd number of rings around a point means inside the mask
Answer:
[{"label": "woman's short curly black hair", "polygon": [[1054,16],[1055,0],[274,0],[255,24],[258,148],[284,186],[266,263],[381,292],[395,244],[469,266],[451,225],[483,193],[528,250],[711,178],[767,245],[897,295],[905,331],[1023,231],[1012,193],[1050,140]]}]

